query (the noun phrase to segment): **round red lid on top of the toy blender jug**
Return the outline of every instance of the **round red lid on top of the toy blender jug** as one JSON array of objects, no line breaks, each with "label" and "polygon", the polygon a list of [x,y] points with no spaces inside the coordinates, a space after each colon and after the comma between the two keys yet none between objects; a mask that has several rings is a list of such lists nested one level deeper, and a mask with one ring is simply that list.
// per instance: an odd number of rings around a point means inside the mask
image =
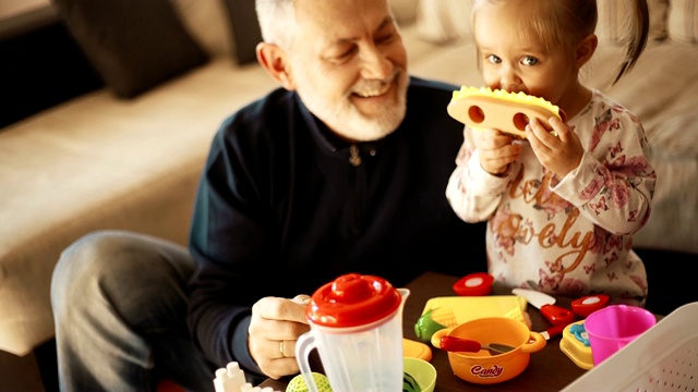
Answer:
[{"label": "round red lid on top of the toy blender jug", "polygon": [[348,273],[315,291],[305,316],[323,327],[357,327],[381,320],[401,303],[400,292],[385,279]]}]

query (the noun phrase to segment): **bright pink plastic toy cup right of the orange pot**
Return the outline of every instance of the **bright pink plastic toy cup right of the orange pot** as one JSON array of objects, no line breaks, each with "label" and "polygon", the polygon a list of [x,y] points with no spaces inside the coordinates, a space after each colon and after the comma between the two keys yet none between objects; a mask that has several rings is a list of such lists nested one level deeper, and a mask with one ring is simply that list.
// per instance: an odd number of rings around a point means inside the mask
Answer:
[{"label": "bright pink plastic toy cup right of the orange pot", "polygon": [[592,313],[585,320],[585,329],[593,365],[598,366],[655,323],[652,313],[637,306],[611,305]]}]

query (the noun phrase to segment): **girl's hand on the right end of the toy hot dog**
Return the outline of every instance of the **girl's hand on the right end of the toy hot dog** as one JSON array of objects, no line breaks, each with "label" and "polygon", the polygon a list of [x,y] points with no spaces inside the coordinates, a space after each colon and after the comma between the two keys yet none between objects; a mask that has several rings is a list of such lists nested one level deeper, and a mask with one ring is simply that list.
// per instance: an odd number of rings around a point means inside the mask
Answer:
[{"label": "girl's hand on the right end of the toy hot dog", "polygon": [[577,134],[564,122],[557,118],[551,118],[549,122],[556,136],[538,120],[531,119],[526,126],[526,137],[541,164],[559,177],[564,177],[579,166],[583,149]]}]

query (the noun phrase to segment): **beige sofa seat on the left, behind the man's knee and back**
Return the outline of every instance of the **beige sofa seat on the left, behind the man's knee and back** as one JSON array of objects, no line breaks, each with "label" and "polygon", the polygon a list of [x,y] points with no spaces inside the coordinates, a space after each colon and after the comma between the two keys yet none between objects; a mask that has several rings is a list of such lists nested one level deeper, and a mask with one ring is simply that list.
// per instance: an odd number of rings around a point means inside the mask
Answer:
[{"label": "beige sofa seat on the left, behind the man's knee and back", "polygon": [[137,99],[99,89],[0,131],[0,350],[53,335],[51,271],[86,233],[186,244],[213,135],[274,87],[262,66],[218,58]]}]

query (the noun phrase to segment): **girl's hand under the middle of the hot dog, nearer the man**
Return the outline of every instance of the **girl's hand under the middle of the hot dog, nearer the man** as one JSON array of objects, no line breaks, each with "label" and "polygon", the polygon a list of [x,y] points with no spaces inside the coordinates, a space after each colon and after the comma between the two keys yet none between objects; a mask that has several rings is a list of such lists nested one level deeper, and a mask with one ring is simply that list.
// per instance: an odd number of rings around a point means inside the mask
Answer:
[{"label": "girl's hand under the middle of the hot dog, nearer the man", "polygon": [[480,166],[490,174],[504,173],[516,161],[521,146],[512,144],[514,137],[497,130],[476,131],[476,147],[480,150]]}]

